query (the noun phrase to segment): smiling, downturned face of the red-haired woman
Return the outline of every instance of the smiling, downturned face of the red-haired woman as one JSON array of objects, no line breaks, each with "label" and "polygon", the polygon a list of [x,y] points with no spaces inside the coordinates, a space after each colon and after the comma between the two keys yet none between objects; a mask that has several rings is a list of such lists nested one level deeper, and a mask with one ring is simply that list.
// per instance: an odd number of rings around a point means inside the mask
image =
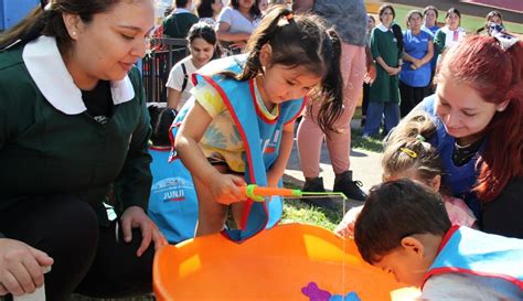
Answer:
[{"label": "smiling, downturned face of the red-haired woman", "polygon": [[488,103],[471,86],[458,83],[448,67],[438,75],[436,112],[446,131],[462,146],[480,139],[494,114],[506,105]]}]

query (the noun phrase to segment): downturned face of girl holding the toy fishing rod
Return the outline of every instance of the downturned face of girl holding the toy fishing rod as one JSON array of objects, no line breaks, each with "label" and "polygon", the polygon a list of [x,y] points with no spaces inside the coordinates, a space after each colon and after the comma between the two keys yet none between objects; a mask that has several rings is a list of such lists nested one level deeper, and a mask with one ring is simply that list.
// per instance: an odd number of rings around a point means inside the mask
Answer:
[{"label": "downturned face of girl holding the toy fishing rod", "polygon": [[268,65],[265,68],[264,92],[274,104],[305,97],[321,80],[321,76],[309,73],[303,67],[290,68],[285,65]]}]

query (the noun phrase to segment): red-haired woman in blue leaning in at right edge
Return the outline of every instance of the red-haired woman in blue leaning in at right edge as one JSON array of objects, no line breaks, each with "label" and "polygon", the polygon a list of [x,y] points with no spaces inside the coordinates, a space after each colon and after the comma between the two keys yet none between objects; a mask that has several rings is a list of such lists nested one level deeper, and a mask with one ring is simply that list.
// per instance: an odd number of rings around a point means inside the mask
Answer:
[{"label": "red-haired woman in blue leaning in at right edge", "polygon": [[470,36],[442,57],[433,138],[444,184],[466,200],[489,233],[523,238],[523,43]]}]

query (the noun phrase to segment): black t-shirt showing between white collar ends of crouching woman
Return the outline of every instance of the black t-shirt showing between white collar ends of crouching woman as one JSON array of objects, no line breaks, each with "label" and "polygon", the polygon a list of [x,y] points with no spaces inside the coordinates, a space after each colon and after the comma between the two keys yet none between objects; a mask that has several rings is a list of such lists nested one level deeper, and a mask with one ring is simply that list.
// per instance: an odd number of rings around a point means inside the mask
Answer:
[{"label": "black t-shirt showing between white collar ends of crouching woman", "polygon": [[98,122],[106,123],[113,116],[113,94],[108,80],[98,80],[92,90],[82,90],[82,99],[87,112]]}]

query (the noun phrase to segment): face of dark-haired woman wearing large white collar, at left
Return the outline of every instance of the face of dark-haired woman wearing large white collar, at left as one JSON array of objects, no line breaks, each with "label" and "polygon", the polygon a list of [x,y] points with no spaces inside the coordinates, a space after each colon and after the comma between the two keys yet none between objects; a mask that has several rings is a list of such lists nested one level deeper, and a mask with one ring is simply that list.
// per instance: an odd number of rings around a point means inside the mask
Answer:
[{"label": "face of dark-haired woman wearing large white collar, at left", "polygon": [[78,87],[88,88],[98,79],[122,79],[146,54],[154,8],[150,0],[119,1],[89,23],[75,14],[64,14],[64,21],[74,40],[64,61]]}]

